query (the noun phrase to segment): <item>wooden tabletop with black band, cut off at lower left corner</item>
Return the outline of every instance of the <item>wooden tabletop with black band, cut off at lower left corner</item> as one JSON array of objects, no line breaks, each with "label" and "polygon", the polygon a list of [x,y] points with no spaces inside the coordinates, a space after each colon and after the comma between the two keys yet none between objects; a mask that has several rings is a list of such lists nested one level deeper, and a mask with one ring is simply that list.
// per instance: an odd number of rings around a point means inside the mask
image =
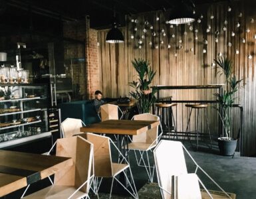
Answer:
[{"label": "wooden tabletop with black band, cut off at lower left corner", "polygon": [[66,166],[72,166],[71,158],[0,150],[0,197],[47,178]]}]

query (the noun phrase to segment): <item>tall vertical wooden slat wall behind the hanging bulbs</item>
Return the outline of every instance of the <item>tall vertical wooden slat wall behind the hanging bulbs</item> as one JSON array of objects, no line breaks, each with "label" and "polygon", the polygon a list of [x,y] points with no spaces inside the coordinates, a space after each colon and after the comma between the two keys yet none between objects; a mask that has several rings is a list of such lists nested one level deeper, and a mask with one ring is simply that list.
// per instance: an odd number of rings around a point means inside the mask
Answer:
[{"label": "tall vertical wooden slat wall behind the hanging bulbs", "polygon": [[[218,84],[223,83],[223,77],[217,75],[217,70],[211,66],[214,58],[217,58],[219,52],[231,58],[234,64],[233,74],[237,78],[243,78],[243,88],[237,94],[237,103],[244,107],[244,128],[243,128],[243,151],[244,155],[254,155],[256,153],[256,136],[255,136],[255,117],[256,117],[256,80],[255,80],[255,62],[256,62],[256,45],[253,38],[256,34],[256,2],[255,1],[235,1],[229,4],[231,12],[227,12],[227,3],[214,3],[211,5],[200,5],[197,7],[197,14],[201,13],[203,19],[201,23],[195,21],[193,31],[190,31],[188,25],[174,26],[166,25],[168,19],[162,11],[152,13],[142,13],[141,15],[132,16],[138,19],[138,31],[134,34],[135,38],[131,39],[133,33],[133,23],[127,23],[126,27],[121,28],[124,33],[124,44],[107,44],[105,42],[108,30],[98,31],[98,55],[100,64],[101,90],[104,96],[119,97],[126,96],[131,88],[128,82],[136,80],[136,73],[132,68],[131,61],[134,58],[144,58],[150,60],[151,66],[157,70],[154,80],[155,84],[164,85],[200,85],[200,84]],[[242,17],[238,17],[242,13]],[[160,17],[156,21],[156,15]],[[214,19],[210,19],[213,15]],[[251,19],[255,19],[251,23]],[[152,39],[152,34],[148,30],[146,38],[143,41],[142,49],[138,48],[138,36],[142,35],[144,21],[148,20],[153,26],[154,31],[160,34],[162,29],[165,30],[166,36],[156,36]],[[223,31],[224,21],[227,20],[227,31]],[[236,23],[240,27],[236,27]],[[207,25],[211,26],[210,33],[206,33]],[[198,40],[195,40],[194,30],[197,29]],[[246,33],[246,29],[250,29]],[[184,35],[186,31],[186,35]],[[219,31],[215,42],[215,31]],[[231,32],[235,36],[231,36]],[[175,34],[175,38],[172,38]],[[182,50],[178,50],[179,38],[182,39]],[[245,38],[246,42],[242,42]],[[203,39],[207,39],[208,44],[203,44]],[[158,49],[152,48],[149,41],[155,42]],[[164,44],[160,44],[160,40]],[[227,46],[231,42],[232,46]],[[171,44],[171,48],[167,48]],[[193,52],[190,49],[193,48]],[[207,53],[203,54],[203,48]],[[235,54],[235,49],[239,54]],[[177,53],[177,56],[174,54]],[[252,59],[247,56],[251,54]],[[215,90],[179,90],[179,91],[162,91],[161,96],[173,96],[175,100],[213,100]],[[182,129],[182,119],[187,117],[186,109],[178,107],[178,128]],[[217,113],[214,109],[208,109],[211,129],[217,135]],[[235,121],[239,121],[238,113]],[[184,119],[186,121],[186,119]]]}]

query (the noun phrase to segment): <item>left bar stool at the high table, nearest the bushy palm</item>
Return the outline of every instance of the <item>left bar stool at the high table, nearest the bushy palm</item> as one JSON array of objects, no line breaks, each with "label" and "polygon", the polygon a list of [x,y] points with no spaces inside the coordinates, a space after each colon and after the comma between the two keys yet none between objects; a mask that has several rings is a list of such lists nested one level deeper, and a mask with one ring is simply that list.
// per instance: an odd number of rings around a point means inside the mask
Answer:
[{"label": "left bar stool at the high table, nearest the bushy palm", "polygon": [[[168,133],[166,133],[166,135],[169,135],[169,139],[170,139],[170,122],[172,124],[172,121],[174,122],[174,132],[176,134],[176,139],[178,139],[178,135],[177,135],[177,128],[176,128],[176,121],[174,119],[174,113],[172,111],[172,107],[176,106],[176,119],[177,119],[177,103],[156,103],[156,114],[159,115],[159,111],[161,110],[161,113],[164,113],[164,109],[166,109],[167,111],[167,126],[168,126]],[[170,113],[171,113],[171,118],[170,118]],[[163,115],[163,117],[162,117]],[[164,125],[166,125],[164,123],[165,121],[165,115],[161,114],[160,116],[160,120],[162,123],[162,127],[164,127]],[[174,136],[175,137],[175,136]]]}]

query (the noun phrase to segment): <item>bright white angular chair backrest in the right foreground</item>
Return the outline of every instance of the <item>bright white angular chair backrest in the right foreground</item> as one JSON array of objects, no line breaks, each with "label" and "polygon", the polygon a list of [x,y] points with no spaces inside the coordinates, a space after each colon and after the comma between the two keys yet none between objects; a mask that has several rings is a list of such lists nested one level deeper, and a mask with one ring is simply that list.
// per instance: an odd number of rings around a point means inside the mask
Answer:
[{"label": "bright white angular chair backrest in the right foreground", "polygon": [[[158,174],[158,184],[168,192],[172,192],[172,176],[187,174],[182,143],[162,140],[154,149],[154,161]],[[170,194],[161,191],[162,198],[171,198]]]}]

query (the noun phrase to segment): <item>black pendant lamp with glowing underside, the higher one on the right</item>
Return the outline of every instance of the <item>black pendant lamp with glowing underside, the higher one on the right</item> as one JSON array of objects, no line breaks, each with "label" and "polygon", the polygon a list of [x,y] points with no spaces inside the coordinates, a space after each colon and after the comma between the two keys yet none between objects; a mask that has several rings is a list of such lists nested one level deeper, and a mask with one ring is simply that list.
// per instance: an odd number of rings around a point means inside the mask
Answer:
[{"label": "black pendant lamp with glowing underside, the higher one on the right", "polygon": [[192,1],[178,1],[174,9],[172,9],[169,23],[174,25],[192,23],[195,21],[195,16],[193,14],[193,9],[195,5]]}]

